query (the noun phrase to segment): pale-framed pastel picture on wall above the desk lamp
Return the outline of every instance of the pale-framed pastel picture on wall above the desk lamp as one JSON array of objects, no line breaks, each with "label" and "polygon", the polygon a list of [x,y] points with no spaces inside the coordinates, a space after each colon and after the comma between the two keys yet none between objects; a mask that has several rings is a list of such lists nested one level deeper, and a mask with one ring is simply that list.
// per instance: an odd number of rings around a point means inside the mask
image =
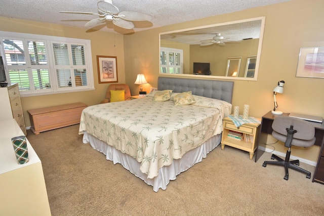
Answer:
[{"label": "pale-framed pastel picture on wall above the desk lamp", "polygon": [[302,47],[296,77],[324,78],[324,47]]}]

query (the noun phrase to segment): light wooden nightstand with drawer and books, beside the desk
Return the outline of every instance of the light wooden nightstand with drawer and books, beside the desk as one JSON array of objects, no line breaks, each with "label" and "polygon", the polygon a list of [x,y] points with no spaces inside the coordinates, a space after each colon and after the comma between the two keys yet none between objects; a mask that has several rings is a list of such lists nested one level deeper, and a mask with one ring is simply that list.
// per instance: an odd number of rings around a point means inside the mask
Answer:
[{"label": "light wooden nightstand with drawer and books, beside the desk", "polygon": [[[224,150],[225,145],[238,148],[250,153],[252,160],[254,152],[257,148],[256,141],[258,140],[260,124],[246,123],[244,125],[235,127],[230,118],[223,119],[223,132],[221,147]],[[241,136],[239,136],[241,134]]]}]

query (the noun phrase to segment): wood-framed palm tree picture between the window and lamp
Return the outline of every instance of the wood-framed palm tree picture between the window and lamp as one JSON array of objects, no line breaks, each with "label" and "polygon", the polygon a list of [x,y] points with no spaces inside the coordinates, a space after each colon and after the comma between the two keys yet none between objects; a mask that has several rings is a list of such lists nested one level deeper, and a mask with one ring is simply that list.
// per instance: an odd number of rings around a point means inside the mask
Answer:
[{"label": "wood-framed palm tree picture between the window and lamp", "polygon": [[117,57],[97,56],[99,83],[118,82]]}]

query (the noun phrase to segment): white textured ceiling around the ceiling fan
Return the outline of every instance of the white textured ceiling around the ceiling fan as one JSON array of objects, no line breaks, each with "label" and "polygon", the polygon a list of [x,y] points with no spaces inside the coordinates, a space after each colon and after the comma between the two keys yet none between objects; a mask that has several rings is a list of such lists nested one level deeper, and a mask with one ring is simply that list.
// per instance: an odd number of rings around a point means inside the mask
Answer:
[{"label": "white textured ceiling around the ceiling fan", "polygon": [[[287,1],[290,0],[113,0],[113,5],[119,12],[141,12],[153,17],[150,21],[134,22],[133,32]],[[0,16],[86,28],[85,23],[96,16],[59,12],[98,13],[97,3],[98,0],[1,1]],[[130,30],[113,26],[110,21],[106,23],[88,30],[130,33]]]}]

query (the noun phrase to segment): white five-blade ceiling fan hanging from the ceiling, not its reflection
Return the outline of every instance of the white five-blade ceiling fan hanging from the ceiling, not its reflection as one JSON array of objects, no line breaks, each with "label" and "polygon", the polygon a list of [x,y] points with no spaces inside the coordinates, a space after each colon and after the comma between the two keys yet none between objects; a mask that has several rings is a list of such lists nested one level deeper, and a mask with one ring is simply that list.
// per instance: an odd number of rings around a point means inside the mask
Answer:
[{"label": "white five-blade ceiling fan hanging from the ceiling, not its reflection", "polygon": [[99,18],[90,20],[85,24],[86,27],[92,27],[99,24],[103,24],[106,21],[112,21],[112,23],[118,27],[125,29],[134,28],[134,24],[131,21],[147,21],[151,20],[152,17],[147,14],[139,12],[124,11],[120,12],[116,6],[112,5],[112,0],[99,1],[98,13],[91,12],[66,12],[62,11],[60,13],[70,13],[70,14],[90,14],[99,16]]}]

